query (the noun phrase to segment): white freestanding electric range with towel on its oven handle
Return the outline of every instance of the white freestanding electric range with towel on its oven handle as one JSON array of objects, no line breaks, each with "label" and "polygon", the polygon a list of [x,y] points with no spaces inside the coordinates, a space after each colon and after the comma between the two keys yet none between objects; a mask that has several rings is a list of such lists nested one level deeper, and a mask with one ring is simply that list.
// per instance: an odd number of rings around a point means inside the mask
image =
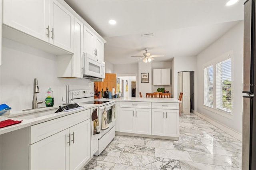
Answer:
[{"label": "white freestanding electric range with towel on its oven handle", "polygon": [[[101,152],[108,146],[108,144],[115,137],[115,120],[112,119],[112,109],[114,106],[114,101],[107,100],[95,100],[94,101],[94,91],[92,90],[72,90],[70,91],[72,94],[71,99],[76,103],[85,103],[85,104],[98,104],[98,119],[100,124],[100,134],[101,137],[98,138],[98,151],[94,154],[96,156],[100,155]],[[107,122],[108,128],[106,130],[102,130],[102,114],[106,109],[107,112]]]}]

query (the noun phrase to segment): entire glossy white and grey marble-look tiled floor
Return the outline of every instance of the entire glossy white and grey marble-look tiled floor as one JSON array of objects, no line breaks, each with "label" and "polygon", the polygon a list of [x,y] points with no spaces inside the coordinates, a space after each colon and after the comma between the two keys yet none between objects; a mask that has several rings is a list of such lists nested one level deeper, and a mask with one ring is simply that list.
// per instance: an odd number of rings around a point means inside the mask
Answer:
[{"label": "entire glossy white and grey marble-look tiled floor", "polygon": [[180,138],[116,135],[83,170],[241,170],[242,142],[197,115],[180,117]]}]

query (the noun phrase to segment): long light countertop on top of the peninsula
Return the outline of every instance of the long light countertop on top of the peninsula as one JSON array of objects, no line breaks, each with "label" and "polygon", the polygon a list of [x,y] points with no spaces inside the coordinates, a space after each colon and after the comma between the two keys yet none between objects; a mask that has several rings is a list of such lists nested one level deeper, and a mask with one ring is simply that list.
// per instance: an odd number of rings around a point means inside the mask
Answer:
[{"label": "long light countertop on top of the peninsula", "polygon": [[133,102],[164,102],[164,103],[181,103],[178,99],[174,98],[146,98],[146,97],[122,97],[114,99],[94,99],[94,100],[104,100],[104,101],[133,101]]}]

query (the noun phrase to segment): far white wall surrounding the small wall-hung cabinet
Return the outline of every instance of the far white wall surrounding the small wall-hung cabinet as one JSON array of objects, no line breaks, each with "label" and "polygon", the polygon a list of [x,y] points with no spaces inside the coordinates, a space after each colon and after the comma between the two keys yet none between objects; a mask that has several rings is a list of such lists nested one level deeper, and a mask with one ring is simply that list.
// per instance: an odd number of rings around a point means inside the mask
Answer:
[{"label": "far white wall surrounding the small wall-hung cabinet", "polygon": [[172,62],[152,62],[152,79],[154,79],[154,69],[170,69],[171,77],[170,77],[170,85],[153,85],[154,82],[152,80],[152,92],[156,91],[159,87],[164,87],[166,91],[169,91],[172,95]]}]

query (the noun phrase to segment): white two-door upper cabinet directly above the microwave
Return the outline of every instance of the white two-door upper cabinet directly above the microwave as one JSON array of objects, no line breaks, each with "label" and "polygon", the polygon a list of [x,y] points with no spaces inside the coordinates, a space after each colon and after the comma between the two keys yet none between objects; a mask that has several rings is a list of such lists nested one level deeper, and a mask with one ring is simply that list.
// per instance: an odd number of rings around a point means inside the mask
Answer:
[{"label": "white two-door upper cabinet directly above the microwave", "polygon": [[84,53],[88,53],[104,61],[104,43],[84,26]]}]

